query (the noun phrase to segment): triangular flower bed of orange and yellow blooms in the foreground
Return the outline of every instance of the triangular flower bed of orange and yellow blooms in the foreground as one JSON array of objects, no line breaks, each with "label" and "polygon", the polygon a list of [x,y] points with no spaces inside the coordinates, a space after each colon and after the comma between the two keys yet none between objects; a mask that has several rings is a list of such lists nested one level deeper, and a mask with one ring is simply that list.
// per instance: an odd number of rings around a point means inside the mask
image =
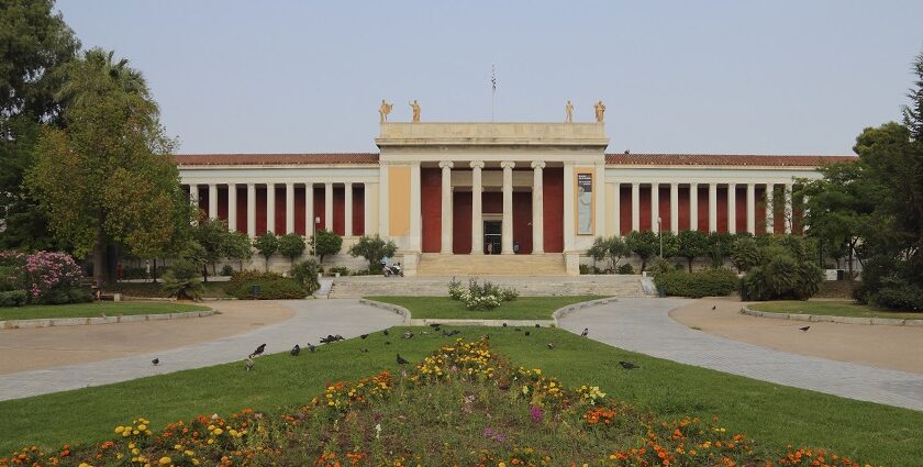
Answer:
[{"label": "triangular flower bed of orange and yellow blooms in the foreground", "polygon": [[279,416],[244,410],[162,430],[138,418],[115,426],[110,441],[26,447],[0,467],[859,466],[821,449],[775,451],[759,456],[753,440],[716,420],[661,420],[600,388],[567,388],[514,366],[486,340],[459,340],[399,375],[330,382]]}]

